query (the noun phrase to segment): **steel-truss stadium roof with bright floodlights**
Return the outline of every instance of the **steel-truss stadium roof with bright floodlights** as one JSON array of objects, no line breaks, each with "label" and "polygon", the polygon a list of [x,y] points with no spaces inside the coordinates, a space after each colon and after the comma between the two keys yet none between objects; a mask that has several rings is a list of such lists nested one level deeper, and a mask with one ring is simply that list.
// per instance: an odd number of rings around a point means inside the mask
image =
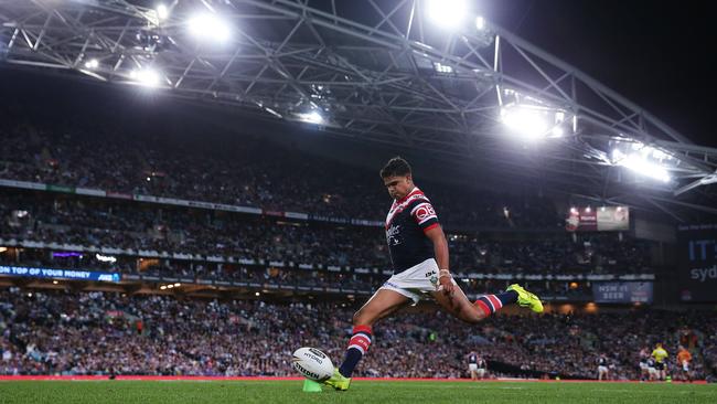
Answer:
[{"label": "steel-truss stadium roof with bright floodlights", "polygon": [[717,214],[717,149],[461,1],[434,3],[0,0],[0,64],[309,123],[596,204]]}]

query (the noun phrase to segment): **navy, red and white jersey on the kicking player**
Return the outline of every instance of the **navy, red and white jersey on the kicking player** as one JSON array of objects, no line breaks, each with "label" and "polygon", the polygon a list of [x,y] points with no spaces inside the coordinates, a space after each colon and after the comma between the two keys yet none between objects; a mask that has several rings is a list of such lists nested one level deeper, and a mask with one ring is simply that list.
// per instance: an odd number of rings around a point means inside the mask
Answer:
[{"label": "navy, red and white jersey on the kicking player", "polygon": [[394,200],[386,216],[386,243],[394,274],[434,258],[434,243],[426,232],[436,226],[436,210],[417,187],[399,201]]}]

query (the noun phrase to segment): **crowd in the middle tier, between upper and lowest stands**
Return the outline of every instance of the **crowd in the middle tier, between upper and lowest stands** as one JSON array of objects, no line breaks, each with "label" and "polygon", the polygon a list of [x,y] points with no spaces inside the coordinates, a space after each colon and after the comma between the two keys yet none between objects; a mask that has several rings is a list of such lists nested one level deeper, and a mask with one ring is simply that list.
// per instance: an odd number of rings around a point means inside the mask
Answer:
[{"label": "crowd in the middle tier, between upper and lowest stands", "polygon": [[[44,192],[0,192],[0,220],[4,224],[0,238],[4,240],[352,268],[390,267],[383,230],[373,226],[160,208]],[[448,240],[452,268],[465,274],[654,272],[649,243],[614,233],[549,233],[526,240],[449,233]],[[97,265],[86,259],[72,263]]]}]

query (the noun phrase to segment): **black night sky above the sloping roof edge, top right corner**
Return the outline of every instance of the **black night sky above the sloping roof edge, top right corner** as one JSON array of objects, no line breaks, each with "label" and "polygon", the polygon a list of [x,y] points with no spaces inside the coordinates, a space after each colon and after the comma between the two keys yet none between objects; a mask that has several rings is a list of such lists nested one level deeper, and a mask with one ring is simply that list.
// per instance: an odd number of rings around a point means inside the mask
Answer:
[{"label": "black night sky above the sloping roof edge, top right corner", "polygon": [[709,4],[478,0],[473,7],[644,107],[696,143],[717,147],[711,128],[717,107],[717,33]]}]

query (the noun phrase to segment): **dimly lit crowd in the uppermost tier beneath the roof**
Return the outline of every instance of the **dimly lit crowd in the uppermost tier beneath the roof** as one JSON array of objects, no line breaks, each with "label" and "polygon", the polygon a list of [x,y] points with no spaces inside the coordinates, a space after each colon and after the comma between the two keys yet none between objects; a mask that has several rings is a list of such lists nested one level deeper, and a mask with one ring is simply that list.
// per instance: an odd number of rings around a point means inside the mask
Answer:
[{"label": "dimly lit crowd in the uppermost tier beneath the roof", "polygon": [[[140,136],[110,125],[41,128],[18,116],[9,121],[17,124],[6,120],[0,126],[0,179],[373,221],[383,220],[390,205],[378,168],[356,168],[266,139]],[[418,184],[447,225],[564,225],[553,202],[539,195],[479,191],[420,178]]]}]

